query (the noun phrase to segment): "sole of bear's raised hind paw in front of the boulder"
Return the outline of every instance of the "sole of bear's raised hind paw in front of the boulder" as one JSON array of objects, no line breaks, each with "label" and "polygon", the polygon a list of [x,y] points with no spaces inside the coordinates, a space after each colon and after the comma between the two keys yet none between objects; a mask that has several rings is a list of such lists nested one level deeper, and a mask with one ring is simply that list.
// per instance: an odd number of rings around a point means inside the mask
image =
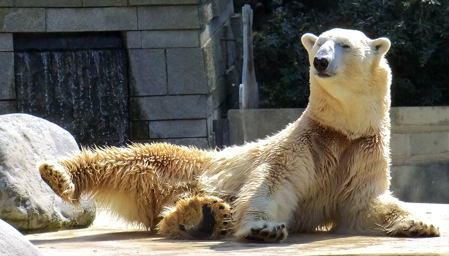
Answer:
[{"label": "sole of bear's raised hind paw in front of the boulder", "polygon": [[70,181],[70,175],[59,166],[60,170],[56,169],[57,164],[41,164],[39,166],[39,173],[42,180],[63,200],[73,204],[71,196],[75,191],[75,186]]}]

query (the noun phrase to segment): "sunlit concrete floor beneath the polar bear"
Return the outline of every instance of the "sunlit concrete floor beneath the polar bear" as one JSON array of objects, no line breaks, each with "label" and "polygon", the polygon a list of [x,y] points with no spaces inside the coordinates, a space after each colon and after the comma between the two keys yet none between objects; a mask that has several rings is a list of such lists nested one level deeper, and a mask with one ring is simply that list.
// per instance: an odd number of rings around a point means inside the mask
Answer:
[{"label": "sunlit concrete floor beneath the polar bear", "polygon": [[168,240],[127,227],[100,212],[94,224],[82,230],[25,236],[44,256],[253,256],[253,255],[448,255],[449,205],[410,204],[421,216],[440,227],[440,238],[353,237],[294,234],[280,244],[241,244],[225,241]]}]

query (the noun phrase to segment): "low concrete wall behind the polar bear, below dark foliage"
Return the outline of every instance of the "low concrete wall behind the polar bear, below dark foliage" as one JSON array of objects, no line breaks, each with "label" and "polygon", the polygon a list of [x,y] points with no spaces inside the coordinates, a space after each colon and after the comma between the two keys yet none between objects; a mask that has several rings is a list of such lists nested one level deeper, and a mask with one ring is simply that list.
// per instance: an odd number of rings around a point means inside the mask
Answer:
[{"label": "low concrete wall behind the polar bear, below dark foliage", "polygon": [[[303,109],[229,110],[231,144],[276,133]],[[449,107],[392,108],[391,190],[408,202],[449,203]]]}]

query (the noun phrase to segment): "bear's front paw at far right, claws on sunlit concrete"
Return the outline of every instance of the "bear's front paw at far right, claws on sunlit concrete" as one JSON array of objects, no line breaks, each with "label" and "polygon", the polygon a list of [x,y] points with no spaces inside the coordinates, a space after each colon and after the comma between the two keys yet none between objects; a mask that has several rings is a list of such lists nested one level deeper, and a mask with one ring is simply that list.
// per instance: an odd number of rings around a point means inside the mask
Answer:
[{"label": "bear's front paw at far right, claws on sunlit concrete", "polygon": [[391,236],[440,237],[440,229],[422,221],[405,219],[389,231]]}]

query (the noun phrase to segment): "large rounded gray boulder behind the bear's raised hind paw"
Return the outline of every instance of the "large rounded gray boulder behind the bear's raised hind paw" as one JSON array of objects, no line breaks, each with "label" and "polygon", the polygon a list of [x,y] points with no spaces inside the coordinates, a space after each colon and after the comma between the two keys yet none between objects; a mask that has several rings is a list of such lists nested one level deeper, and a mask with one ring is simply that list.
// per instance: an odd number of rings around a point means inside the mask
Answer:
[{"label": "large rounded gray boulder behind the bear's raised hind paw", "polygon": [[77,150],[66,130],[27,114],[0,115],[0,219],[19,231],[89,226],[95,206],[73,207],[42,181],[37,166]]}]

